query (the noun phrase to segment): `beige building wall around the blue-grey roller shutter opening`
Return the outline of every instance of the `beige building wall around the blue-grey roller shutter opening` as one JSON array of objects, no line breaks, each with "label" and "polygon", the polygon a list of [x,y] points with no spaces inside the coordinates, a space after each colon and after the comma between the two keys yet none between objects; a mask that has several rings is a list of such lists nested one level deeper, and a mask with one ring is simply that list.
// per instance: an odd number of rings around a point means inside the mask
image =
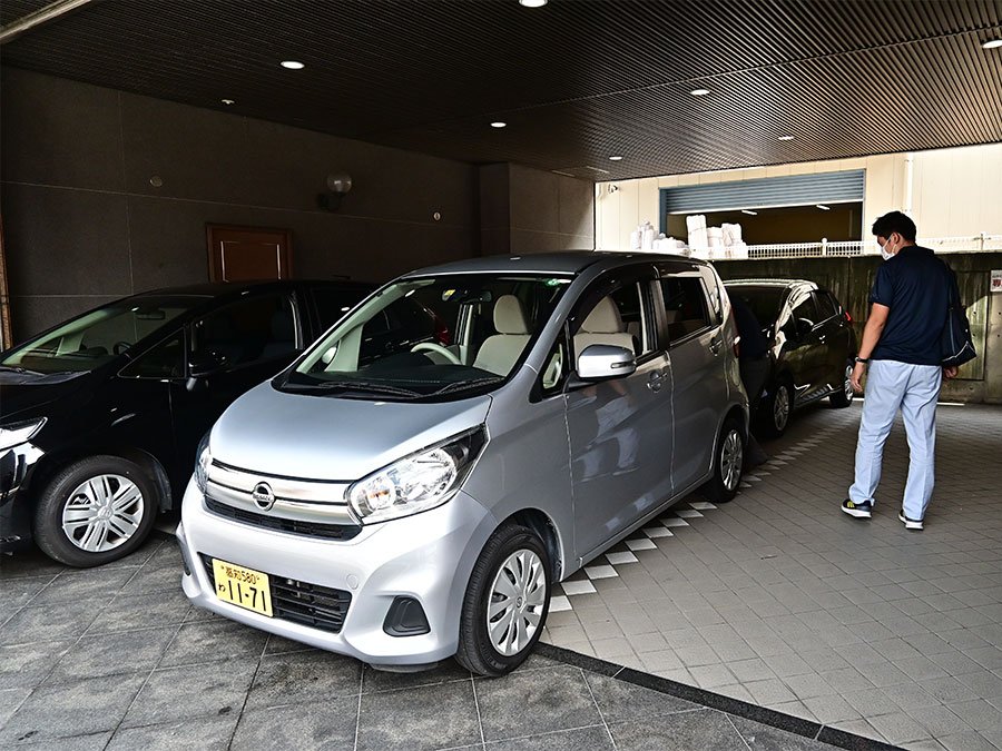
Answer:
[{"label": "beige building wall around the blue-grey roller shutter opening", "polygon": [[[1002,234],[1002,144],[943,149],[913,155],[911,216],[923,237]],[[866,170],[864,238],[873,221],[892,210],[906,210],[908,155],[806,161],[717,172],[650,177],[596,185],[596,243],[605,250],[629,247],[630,231],[646,219],[657,226],[660,188],[752,180],[783,175]],[[610,191],[615,185],[617,190]],[[668,234],[685,239],[682,217],[669,217]],[[805,237],[804,241],[817,238]]]}]

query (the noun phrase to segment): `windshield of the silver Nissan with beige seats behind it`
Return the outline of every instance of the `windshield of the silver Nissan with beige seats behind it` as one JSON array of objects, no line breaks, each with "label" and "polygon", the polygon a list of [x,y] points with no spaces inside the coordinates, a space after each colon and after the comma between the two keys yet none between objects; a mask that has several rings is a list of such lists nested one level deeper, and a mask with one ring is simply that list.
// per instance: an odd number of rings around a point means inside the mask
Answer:
[{"label": "windshield of the silver Nissan with beige seats behind it", "polygon": [[275,386],[348,398],[470,396],[508,378],[570,276],[448,275],[396,281]]}]

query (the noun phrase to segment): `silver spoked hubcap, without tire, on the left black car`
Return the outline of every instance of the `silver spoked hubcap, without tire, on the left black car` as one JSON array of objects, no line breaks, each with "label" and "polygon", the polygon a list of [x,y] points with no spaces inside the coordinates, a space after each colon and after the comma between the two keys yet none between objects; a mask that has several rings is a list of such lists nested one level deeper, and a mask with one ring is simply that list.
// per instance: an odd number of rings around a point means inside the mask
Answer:
[{"label": "silver spoked hubcap, without tire, on the left black car", "polygon": [[88,553],[126,543],[143,521],[146,504],[139,487],[121,475],[98,475],[80,483],[62,508],[62,533]]}]

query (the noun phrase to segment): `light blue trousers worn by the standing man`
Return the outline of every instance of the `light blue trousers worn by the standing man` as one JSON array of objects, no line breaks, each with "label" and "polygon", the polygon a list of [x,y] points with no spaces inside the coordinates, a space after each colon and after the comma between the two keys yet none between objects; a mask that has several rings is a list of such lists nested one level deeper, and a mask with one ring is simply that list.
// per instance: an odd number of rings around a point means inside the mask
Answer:
[{"label": "light blue trousers worn by the standing man", "polygon": [[925,517],[935,482],[936,397],[942,379],[943,369],[939,365],[910,365],[891,359],[870,363],[851,501],[875,503],[873,494],[881,483],[884,443],[901,409],[910,453],[902,505],[908,518]]}]

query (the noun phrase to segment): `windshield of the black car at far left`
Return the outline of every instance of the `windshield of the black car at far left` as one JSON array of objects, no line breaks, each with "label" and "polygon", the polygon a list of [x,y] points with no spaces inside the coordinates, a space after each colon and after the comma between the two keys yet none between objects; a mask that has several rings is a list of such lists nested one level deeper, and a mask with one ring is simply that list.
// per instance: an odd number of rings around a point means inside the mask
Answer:
[{"label": "windshield of the black car at far left", "polygon": [[92,370],[200,303],[198,297],[140,297],[85,313],[28,342],[0,366],[33,373]]}]

